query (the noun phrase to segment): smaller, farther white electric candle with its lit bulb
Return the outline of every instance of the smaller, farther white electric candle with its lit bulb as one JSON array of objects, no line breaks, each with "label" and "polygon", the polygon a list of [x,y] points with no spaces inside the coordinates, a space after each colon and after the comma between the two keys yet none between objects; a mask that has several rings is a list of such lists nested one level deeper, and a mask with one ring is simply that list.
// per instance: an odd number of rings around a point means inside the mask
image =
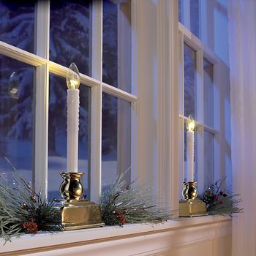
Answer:
[{"label": "smaller, farther white electric candle with its lit bulb", "polygon": [[194,129],[195,121],[189,115],[189,121],[187,121],[187,181],[194,181]]}]

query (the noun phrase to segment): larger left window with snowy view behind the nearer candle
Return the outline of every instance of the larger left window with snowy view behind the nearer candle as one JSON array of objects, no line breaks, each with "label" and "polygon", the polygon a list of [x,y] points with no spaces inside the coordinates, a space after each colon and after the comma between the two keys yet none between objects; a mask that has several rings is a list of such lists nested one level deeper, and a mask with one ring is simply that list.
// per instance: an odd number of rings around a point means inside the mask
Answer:
[{"label": "larger left window with snowy view behind the nearer candle", "polygon": [[8,181],[15,182],[4,157],[35,189],[60,197],[71,62],[80,71],[78,167],[87,197],[97,200],[130,169],[137,101],[130,82],[130,9],[129,1],[0,1],[0,167]]}]

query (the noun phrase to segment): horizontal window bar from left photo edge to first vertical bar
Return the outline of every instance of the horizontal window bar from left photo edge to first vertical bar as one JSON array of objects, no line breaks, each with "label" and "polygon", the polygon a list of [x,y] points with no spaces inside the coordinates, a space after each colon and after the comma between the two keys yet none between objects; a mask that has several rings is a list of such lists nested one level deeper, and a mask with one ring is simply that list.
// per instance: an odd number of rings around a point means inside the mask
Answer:
[{"label": "horizontal window bar from left photo edge to first vertical bar", "polygon": [[26,50],[22,50],[13,45],[9,45],[6,42],[0,41],[0,54],[10,57],[12,59],[17,59],[26,64],[30,64],[31,66],[38,67],[42,64],[46,64],[48,62],[47,59],[39,57],[34,53],[29,53]]}]

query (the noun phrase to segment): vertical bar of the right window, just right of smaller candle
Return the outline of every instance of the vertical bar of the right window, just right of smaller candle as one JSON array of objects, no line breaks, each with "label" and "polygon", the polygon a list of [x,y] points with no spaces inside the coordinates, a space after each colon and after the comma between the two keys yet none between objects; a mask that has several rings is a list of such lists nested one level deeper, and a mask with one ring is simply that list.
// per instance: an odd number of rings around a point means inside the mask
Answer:
[{"label": "vertical bar of the right window, just right of smaller candle", "polygon": [[[196,52],[196,70],[197,70],[197,121],[204,124],[203,121],[203,50]],[[197,186],[204,189],[204,143],[203,126],[197,127]]]}]

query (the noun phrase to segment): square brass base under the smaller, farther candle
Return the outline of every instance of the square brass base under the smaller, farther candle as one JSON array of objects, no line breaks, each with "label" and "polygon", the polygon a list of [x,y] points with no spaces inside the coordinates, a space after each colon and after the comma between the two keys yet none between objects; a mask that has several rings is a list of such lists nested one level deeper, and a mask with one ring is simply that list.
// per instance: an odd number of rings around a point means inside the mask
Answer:
[{"label": "square brass base under the smaller, farther candle", "polygon": [[179,217],[199,217],[208,215],[206,203],[200,199],[180,200]]}]

